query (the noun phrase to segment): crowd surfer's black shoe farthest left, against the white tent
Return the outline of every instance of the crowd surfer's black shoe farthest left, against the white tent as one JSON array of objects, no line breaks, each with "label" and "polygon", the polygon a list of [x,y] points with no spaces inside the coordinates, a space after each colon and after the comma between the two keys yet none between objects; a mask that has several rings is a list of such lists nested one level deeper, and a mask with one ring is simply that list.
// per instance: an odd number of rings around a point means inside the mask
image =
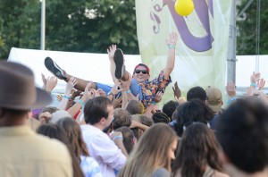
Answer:
[{"label": "crowd surfer's black shoe farthest left, against the white tent", "polygon": [[45,59],[45,66],[46,69],[49,72],[52,72],[55,77],[57,77],[60,80],[66,80],[65,77],[66,72],[62,70],[57,63],[54,63],[54,61],[50,57],[46,57]]}]

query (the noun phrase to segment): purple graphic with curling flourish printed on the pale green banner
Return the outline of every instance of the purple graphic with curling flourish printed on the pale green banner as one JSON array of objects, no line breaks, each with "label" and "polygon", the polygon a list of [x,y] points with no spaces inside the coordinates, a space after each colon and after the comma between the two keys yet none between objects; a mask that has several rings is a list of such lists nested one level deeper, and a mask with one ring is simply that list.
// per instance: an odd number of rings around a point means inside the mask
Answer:
[{"label": "purple graphic with curling flourish printed on the pale green banner", "polygon": [[[195,11],[197,13],[198,19],[201,21],[206,31],[205,37],[195,37],[193,34],[191,34],[185,18],[175,12],[174,4],[175,1],[173,0],[163,0],[163,6],[161,7],[159,4],[155,4],[154,10],[159,13],[163,10],[163,7],[167,5],[170,13],[172,14],[172,19],[175,22],[176,28],[180,33],[180,38],[190,49],[197,52],[204,52],[211,49],[214,38],[210,30],[209,13],[214,16],[213,0],[208,0],[208,5],[206,4],[205,0],[194,0]],[[153,30],[155,33],[158,33],[161,20],[158,15],[153,12],[151,12],[150,15],[152,21],[155,22]]]}]

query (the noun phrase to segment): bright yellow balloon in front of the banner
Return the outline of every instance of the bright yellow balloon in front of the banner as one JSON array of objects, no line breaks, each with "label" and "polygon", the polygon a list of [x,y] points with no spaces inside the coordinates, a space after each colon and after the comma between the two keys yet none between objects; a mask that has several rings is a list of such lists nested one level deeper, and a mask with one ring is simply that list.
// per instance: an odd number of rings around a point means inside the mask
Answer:
[{"label": "bright yellow balloon in front of the banner", "polygon": [[175,11],[181,16],[188,16],[195,9],[195,4],[192,0],[177,0],[175,3]]}]

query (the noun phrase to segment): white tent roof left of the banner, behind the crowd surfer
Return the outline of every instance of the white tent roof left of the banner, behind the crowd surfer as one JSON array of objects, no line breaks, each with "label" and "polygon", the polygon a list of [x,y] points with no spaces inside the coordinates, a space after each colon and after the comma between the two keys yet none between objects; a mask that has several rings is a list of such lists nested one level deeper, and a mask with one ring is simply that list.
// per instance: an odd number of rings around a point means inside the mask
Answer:
[{"label": "white tent roof left of the banner, behind the crowd surfer", "polygon": [[[107,54],[88,54],[75,52],[56,52],[46,50],[21,49],[13,47],[8,61],[27,65],[35,74],[35,82],[38,87],[43,86],[41,73],[52,76],[48,72],[44,61],[46,56],[51,57],[67,73],[84,80],[93,80],[113,86],[110,74],[110,61]],[[140,55],[124,55],[125,65],[132,72],[134,67],[141,63]],[[54,92],[63,93],[66,83],[58,81]]]}]

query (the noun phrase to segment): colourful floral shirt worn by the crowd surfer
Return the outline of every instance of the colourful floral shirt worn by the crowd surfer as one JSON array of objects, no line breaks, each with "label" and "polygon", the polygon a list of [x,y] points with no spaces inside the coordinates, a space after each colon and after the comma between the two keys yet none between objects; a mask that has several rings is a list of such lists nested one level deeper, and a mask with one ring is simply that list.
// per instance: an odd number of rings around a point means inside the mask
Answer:
[{"label": "colourful floral shirt worn by the crowd surfer", "polygon": [[147,106],[151,104],[154,99],[156,93],[158,91],[162,91],[164,93],[164,89],[172,82],[171,76],[168,79],[164,78],[163,71],[151,81],[145,81],[139,83],[138,85],[141,87],[142,91],[142,100],[141,102],[147,109]]}]

